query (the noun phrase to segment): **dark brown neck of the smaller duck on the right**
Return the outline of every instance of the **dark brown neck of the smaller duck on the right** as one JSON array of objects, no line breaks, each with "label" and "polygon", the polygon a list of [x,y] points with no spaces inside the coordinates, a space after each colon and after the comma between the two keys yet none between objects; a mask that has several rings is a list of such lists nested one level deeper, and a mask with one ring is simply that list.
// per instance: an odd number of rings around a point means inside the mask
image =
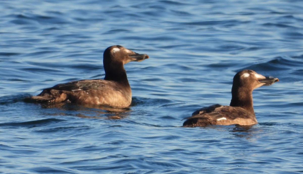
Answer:
[{"label": "dark brown neck of the smaller duck on the right", "polygon": [[255,114],[253,101],[252,101],[252,91],[245,88],[231,89],[231,102],[230,106],[241,107],[251,114]]}]

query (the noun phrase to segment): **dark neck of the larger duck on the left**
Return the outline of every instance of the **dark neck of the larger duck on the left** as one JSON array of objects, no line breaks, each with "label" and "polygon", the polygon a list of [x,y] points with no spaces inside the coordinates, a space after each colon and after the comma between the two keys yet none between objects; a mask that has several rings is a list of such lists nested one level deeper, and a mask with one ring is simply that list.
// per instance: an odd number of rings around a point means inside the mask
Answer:
[{"label": "dark neck of the larger duck on the left", "polygon": [[104,65],[105,77],[104,80],[121,82],[125,85],[129,85],[126,71],[123,67],[122,63],[113,63],[111,62],[109,65]]}]

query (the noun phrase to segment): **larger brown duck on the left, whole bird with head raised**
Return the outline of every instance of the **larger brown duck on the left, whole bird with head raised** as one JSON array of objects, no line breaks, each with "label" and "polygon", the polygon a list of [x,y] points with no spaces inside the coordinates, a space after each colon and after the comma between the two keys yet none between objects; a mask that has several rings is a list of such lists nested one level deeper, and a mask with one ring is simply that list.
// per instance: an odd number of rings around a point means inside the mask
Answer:
[{"label": "larger brown duck on the left, whole bird with head raised", "polygon": [[108,47],[103,54],[104,79],[78,80],[44,89],[31,99],[39,103],[75,103],[80,105],[107,105],[127,107],[132,101],[124,64],[148,58],[120,45]]}]

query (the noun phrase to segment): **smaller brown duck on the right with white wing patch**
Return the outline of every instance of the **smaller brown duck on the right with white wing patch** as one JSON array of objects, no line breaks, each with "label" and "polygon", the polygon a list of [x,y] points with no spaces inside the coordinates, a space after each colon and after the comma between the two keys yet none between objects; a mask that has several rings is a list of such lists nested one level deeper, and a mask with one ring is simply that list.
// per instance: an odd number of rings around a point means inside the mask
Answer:
[{"label": "smaller brown duck on the right with white wing patch", "polygon": [[238,72],[233,80],[231,102],[229,106],[219,104],[198,109],[191,117],[185,118],[184,127],[207,126],[210,124],[253,125],[257,124],[252,91],[260,86],[268,86],[278,82],[277,78],[262,76],[252,70]]}]

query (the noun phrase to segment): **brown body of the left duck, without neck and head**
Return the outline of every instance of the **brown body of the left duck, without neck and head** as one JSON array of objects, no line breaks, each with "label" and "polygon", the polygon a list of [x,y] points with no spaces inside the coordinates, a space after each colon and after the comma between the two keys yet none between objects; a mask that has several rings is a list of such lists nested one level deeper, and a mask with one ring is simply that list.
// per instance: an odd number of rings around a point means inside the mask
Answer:
[{"label": "brown body of the left duck, without neck and head", "polygon": [[132,102],[132,90],[129,84],[121,82],[103,79],[79,80],[44,89],[32,98],[41,102],[127,107]]}]

